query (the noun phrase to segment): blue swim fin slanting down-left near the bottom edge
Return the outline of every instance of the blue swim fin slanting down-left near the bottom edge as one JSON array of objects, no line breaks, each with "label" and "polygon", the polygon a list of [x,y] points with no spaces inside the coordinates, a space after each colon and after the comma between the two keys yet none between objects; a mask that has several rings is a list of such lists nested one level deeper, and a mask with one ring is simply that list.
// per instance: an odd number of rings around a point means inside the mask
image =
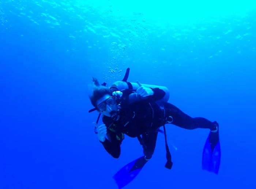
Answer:
[{"label": "blue swim fin slanting down-left near the bottom edge", "polygon": [[118,185],[118,188],[123,188],[124,186],[129,184],[129,182],[131,182],[139,174],[140,170],[147,162],[148,161],[144,158],[144,156],[142,156],[128,163],[122,169],[120,169],[113,176],[116,184]]}]

